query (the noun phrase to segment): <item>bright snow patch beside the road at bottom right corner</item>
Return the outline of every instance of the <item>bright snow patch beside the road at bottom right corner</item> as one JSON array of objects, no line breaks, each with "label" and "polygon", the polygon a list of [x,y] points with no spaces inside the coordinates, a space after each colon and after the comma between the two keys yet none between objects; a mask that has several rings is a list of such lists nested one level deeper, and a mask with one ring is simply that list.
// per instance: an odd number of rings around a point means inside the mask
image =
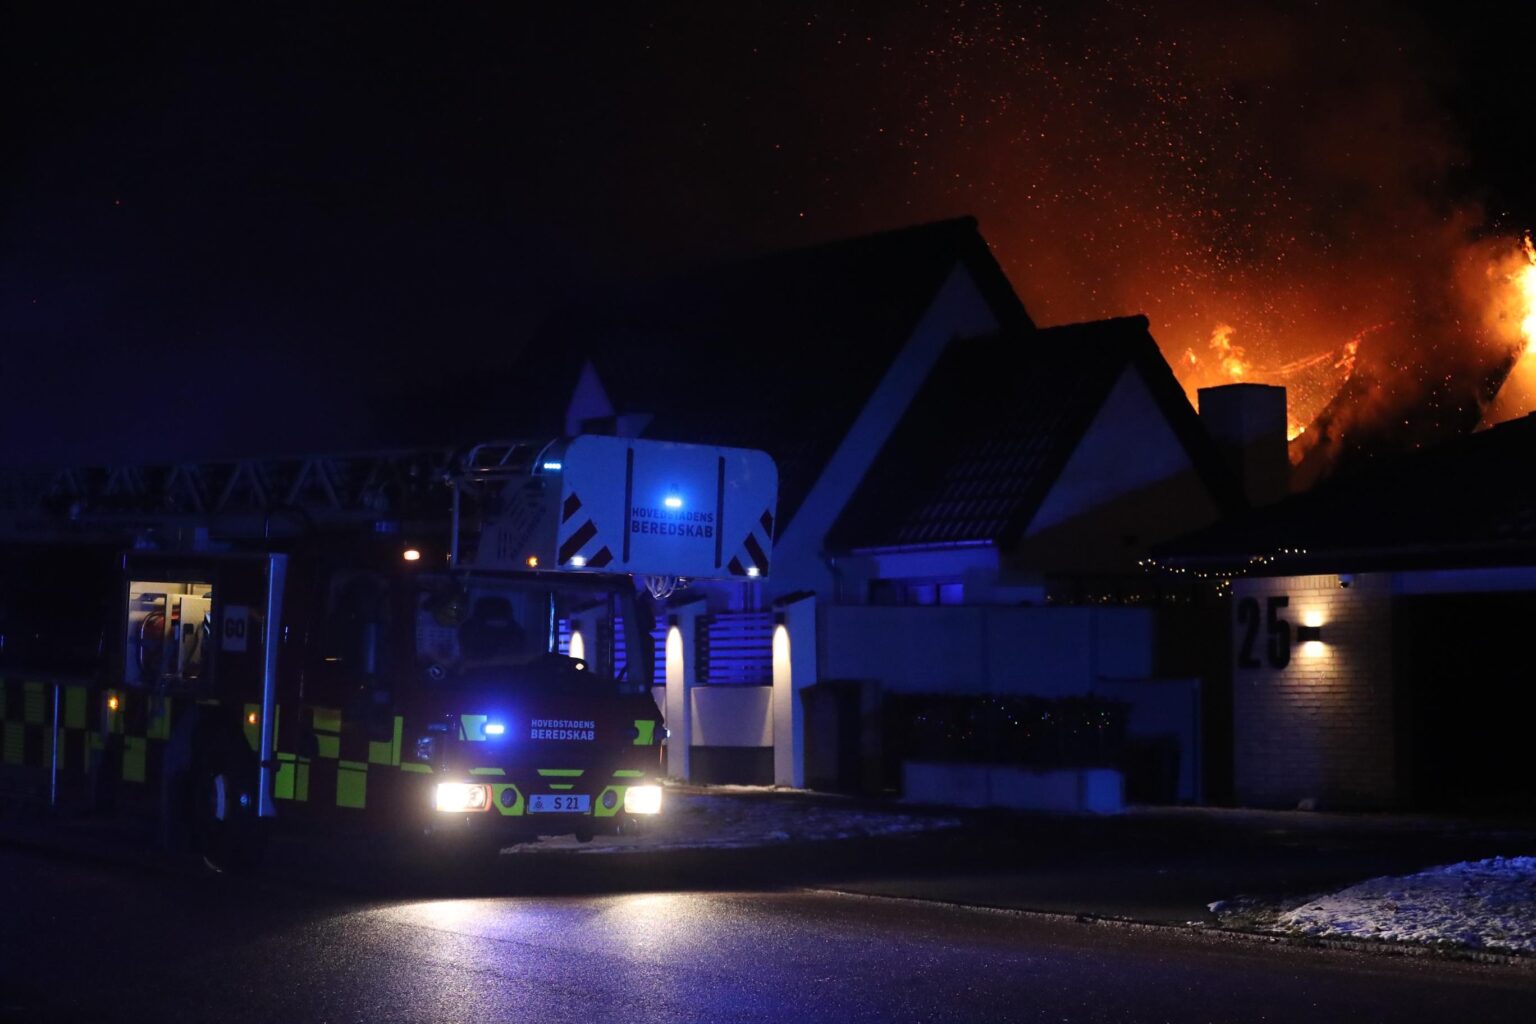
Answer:
[{"label": "bright snow patch beside the road at bottom right corner", "polygon": [[[1223,904],[1212,904],[1221,913]],[[1536,952],[1536,857],[1495,857],[1372,878],[1283,910],[1295,935]]]}]

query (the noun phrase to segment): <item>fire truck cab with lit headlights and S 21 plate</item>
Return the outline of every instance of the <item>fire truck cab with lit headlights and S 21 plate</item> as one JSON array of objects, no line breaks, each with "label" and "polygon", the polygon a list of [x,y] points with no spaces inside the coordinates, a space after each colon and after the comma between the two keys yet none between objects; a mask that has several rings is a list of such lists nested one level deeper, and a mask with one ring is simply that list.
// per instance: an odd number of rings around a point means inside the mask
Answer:
[{"label": "fire truck cab with lit headlights and S 21 plate", "polygon": [[280,811],[507,841],[659,811],[667,731],[633,582],[409,565],[324,573],[304,692],[280,697],[300,706]]}]

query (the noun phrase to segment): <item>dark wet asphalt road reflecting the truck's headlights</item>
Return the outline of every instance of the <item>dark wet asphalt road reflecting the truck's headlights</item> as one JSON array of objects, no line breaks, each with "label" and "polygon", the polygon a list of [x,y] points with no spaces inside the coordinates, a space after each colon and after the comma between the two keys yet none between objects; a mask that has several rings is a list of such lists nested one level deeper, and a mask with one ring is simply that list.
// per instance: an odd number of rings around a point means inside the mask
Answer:
[{"label": "dark wet asphalt road reflecting the truck's headlights", "polygon": [[364,900],[0,849],[3,1021],[1522,1021],[1536,972],[817,890]]}]

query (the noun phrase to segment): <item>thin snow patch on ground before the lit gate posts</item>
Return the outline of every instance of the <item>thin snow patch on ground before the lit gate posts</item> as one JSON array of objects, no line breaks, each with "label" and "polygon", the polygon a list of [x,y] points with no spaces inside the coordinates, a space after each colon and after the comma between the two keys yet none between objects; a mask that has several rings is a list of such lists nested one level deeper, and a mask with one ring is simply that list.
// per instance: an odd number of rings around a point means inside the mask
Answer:
[{"label": "thin snow patch on ground before the lit gate posts", "polygon": [[624,854],[679,849],[742,849],[776,843],[903,835],[955,827],[955,818],[900,814],[837,800],[808,800],[797,791],[720,786],[707,792],[668,788],[662,812],[633,835],[599,835],[591,843],[542,840],[513,847],[541,852]]}]

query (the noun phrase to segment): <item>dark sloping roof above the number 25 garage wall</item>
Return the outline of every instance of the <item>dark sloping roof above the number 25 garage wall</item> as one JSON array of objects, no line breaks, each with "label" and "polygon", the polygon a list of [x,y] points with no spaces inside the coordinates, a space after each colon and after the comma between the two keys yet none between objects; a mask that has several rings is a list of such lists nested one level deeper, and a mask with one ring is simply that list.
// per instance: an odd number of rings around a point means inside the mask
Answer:
[{"label": "dark sloping roof above the number 25 garage wall", "polygon": [[1266,574],[1531,563],[1533,465],[1536,416],[1525,416],[1330,477],[1155,554],[1172,565]]}]

